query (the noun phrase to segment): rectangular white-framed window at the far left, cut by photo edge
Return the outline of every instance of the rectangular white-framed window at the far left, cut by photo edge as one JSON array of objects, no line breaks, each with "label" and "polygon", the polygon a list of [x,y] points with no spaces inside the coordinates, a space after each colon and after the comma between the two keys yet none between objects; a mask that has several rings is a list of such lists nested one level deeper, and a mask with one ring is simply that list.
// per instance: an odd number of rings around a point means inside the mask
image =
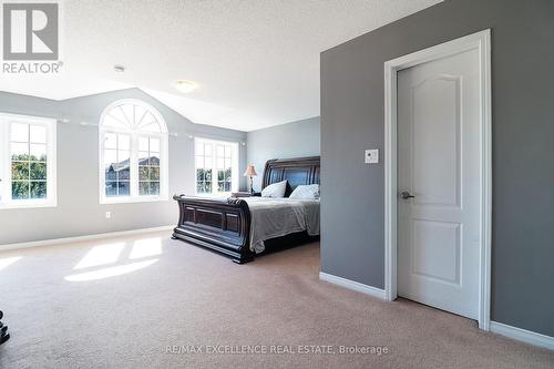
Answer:
[{"label": "rectangular white-framed window at the far left, cut by photo edge", "polygon": [[0,114],[0,208],[55,205],[55,120]]}]

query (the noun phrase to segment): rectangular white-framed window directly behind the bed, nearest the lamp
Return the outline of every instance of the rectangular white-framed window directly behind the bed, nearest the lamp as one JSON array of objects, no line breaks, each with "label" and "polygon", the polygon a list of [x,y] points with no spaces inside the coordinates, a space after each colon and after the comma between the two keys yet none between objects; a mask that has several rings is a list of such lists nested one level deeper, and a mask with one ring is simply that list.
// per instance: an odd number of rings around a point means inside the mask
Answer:
[{"label": "rectangular white-framed window directly behind the bed, nearest the lamp", "polygon": [[238,143],[195,140],[196,193],[227,195],[238,188]]}]

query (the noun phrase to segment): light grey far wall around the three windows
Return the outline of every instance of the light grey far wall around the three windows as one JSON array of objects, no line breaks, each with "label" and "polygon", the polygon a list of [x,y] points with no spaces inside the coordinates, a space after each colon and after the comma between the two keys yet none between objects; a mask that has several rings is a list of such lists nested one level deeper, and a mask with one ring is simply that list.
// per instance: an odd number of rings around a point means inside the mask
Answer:
[{"label": "light grey far wall around the three windows", "polygon": [[[246,142],[246,133],[195,124],[138,89],[51,101],[0,92],[0,112],[69,120],[58,123],[58,206],[0,209],[0,245],[167,226],[177,223],[173,199],[133,204],[100,204],[99,131],[103,110],[120,99],[138,99],[160,111],[170,133],[170,195],[195,193],[194,140]],[[239,170],[246,146],[239,144]],[[245,178],[240,176],[240,185]],[[105,218],[105,212],[112,218]]]}]

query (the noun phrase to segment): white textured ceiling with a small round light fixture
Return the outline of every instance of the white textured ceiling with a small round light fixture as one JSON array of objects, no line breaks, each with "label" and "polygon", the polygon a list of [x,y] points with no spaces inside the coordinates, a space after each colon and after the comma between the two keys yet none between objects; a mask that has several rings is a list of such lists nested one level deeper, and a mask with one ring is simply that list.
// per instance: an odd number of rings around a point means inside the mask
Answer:
[{"label": "white textured ceiling with a small round light fixture", "polygon": [[[138,86],[193,122],[252,131],[319,115],[321,51],[438,2],[61,1],[60,75],[0,74],[0,90],[61,100]],[[199,89],[182,94],[177,79]]]}]

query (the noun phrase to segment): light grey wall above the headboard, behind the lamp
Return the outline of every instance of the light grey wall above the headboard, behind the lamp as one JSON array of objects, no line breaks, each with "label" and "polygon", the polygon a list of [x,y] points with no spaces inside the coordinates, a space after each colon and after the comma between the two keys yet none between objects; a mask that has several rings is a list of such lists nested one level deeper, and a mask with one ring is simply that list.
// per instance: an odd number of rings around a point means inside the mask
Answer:
[{"label": "light grey wall above the headboard, behind the lamp", "polygon": [[254,189],[261,189],[264,166],[270,158],[319,155],[319,116],[248,132],[247,163],[256,166]]}]

